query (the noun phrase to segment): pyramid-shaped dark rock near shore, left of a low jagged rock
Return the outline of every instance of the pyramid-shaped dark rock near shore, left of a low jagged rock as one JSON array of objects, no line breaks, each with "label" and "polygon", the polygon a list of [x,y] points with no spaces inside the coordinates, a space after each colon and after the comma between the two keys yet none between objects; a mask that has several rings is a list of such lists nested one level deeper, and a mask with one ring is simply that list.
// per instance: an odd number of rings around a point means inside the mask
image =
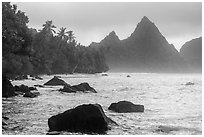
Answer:
[{"label": "pyramid-shaped dark rock near shore, left of a low jagged rock", "polygon": [[54,78],[52,78],[51,80],[46,82],[44,85],[47,85],[47,86],[65,86],[65,85],[69,85],[69,84],[67,84],[64,80],[59,79],[58,77],[54,76]]}]

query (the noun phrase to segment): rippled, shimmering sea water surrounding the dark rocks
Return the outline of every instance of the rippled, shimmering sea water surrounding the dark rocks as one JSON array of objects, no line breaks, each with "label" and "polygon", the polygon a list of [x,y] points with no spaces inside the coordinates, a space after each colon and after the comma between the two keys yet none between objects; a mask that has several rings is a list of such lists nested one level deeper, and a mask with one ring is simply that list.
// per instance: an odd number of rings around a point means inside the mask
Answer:
[{"label": "rippled, shimmering sea water surrounding the dark rocks", "polygon": [[[98,93],[61,93],[61,88],[39,88],[37,98],[16,96],[2,99],[2,115],[9,118],[2,134],[45,135],[48,118],[81,104],[98,103],[105,114],[118,123],[108,135],[201,135],[202,134],[202,75],[201,74],[137,74],[107,73],[59,75],[74,85],[88,82]],[[130,75],[131,77],[127,77]],[[13,85],[43,85],[43,80],[12,81]],[[194,85],[185,84],[193,82]],[[111,103],[127,100],[145,107],[144,113],[115,113]],[[171,128],[162,132],[160,126]],[[80,134],[61,132],[60,134]]]}]

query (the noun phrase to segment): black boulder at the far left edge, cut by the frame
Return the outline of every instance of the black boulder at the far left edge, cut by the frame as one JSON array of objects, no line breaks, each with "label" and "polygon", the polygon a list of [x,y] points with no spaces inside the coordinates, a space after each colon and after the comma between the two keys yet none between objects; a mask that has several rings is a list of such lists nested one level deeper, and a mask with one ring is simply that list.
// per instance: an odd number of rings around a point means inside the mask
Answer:
[{"label": "black boulder at the far left edge, cut by the frame", "polygon": [[2,77],[2,97],[12,97],[15,96],[15,89],[9,79],[6,76]]}]

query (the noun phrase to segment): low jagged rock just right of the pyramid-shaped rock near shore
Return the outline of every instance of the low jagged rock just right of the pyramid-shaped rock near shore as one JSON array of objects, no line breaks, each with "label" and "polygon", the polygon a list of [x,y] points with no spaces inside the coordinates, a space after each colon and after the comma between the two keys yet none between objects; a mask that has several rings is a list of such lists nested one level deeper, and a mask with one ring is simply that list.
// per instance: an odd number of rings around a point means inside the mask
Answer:
[{"label": "low jagged rock just right of the pyramid-shaped rock near shore", "polygon": [[65,85],[64,88],[60,89],[59,91],[68,92],[68,93],[75,93],[77,91],[81,91],[81,92],[90,91],[93,93],[97,93],[96,90],[93,87],[91,87],[88,83],[81,83],[74,86]]}]

